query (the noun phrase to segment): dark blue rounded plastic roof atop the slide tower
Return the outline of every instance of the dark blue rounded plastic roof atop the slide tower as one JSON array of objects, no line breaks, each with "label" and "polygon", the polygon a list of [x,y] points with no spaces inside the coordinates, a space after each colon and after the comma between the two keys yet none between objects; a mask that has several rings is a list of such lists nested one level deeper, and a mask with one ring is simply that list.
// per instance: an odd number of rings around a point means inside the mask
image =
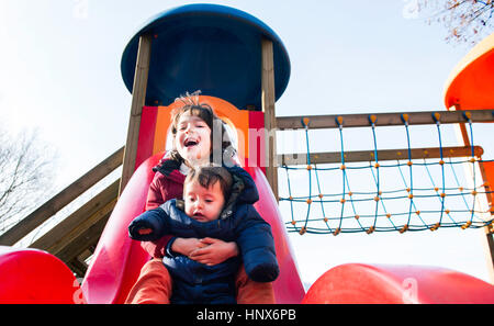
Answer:
[{"label": "dark blue rounded plastic roof atop the slide tower", "polygon": [[138,38],[153,37],[146,104],[168,105],[186,91],[201,90],[238,109],[261,108],[261,37],[273,42],[278,100],[290,79],[290,59],[280,37],[240,10],[189,4],[151,18],[125,47],[122,77],[132,92]]}]

